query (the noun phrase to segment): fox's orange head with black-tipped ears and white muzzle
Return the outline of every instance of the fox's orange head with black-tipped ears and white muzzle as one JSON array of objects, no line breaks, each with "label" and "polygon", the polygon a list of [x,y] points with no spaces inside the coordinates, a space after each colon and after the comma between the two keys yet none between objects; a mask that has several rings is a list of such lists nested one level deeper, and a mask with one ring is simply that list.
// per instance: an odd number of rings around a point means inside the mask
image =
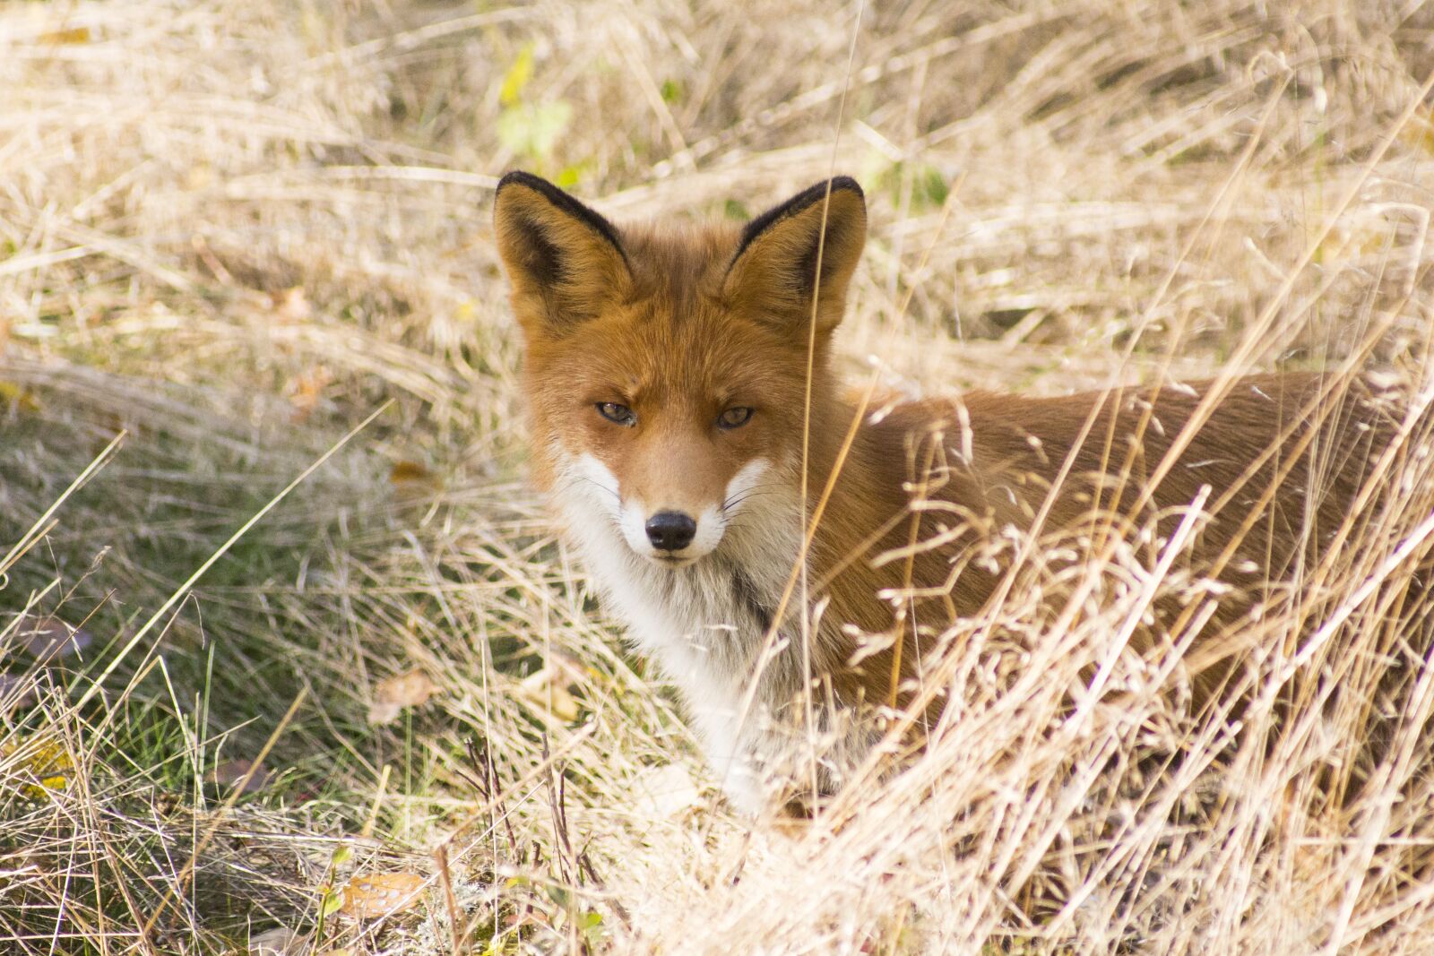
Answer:
[{"label": "fox's orange head with black-tipped ears and white muzzle", "polygon": [[714,552],[749,500],[800,480],[866,238],[855,181],[817,183],[744,228],[619,228],[512,172],[493,218],[541,482],[595,490],[631,552],[681,568]]}]

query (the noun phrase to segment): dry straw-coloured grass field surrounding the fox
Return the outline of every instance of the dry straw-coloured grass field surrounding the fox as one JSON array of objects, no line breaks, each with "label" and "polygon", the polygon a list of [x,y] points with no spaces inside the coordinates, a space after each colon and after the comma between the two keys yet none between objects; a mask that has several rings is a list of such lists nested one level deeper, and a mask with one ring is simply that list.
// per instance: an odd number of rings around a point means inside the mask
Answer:
[{"label": "dry straw-coloured grass field surrounding the fox", "polygon": [[1418,429],[1245,734],[1124,644],[1200,582],[1114,549],[972,622],[905,774],[749,826],[526,489],[489,228],[511,168],[615,219],[846,172],[853,381],[1427,403],[1431,77],[1420,0],[0,3],[0,952],[1434,952],[1434,687],[1342,793]]}]

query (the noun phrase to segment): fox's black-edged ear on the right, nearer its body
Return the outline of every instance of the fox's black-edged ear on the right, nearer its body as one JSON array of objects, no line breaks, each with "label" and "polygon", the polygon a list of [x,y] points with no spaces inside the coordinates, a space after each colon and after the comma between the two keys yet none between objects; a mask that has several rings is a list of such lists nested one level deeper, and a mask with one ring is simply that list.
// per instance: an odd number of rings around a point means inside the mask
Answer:
[{"label": "fox's black-edged ear on the right, nearer its body", "polygon": [[747,224],[723,291],[759,321],[803,333],[815,295],[817,331],[830,334],[865,244],[862,188],[849,176],[819,182]]}]

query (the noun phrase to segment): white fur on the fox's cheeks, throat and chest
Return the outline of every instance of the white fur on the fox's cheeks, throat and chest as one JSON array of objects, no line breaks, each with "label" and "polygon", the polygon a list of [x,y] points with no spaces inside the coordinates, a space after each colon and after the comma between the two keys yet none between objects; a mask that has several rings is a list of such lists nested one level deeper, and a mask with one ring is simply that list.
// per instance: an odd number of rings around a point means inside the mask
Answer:
[{"label": "white fur on the fox's cheeks, throat and chest", "polygon": [[[780,712],[804,684],[804,658],[773,613],[800,540],[794,489],[754,462],[728,489],[721,542],[685,568],[663,568],[628,546],[618,482],[592,456],[564,462],[554,503],[612,611],[638,649],[681,692],[708,761],[739,810],[764,800],[763,765],[783,748]],[[784,615],[797,621],[794,613]],[[753,687],[756,685],[756,687]],[[790,732],[790,730],[787,731]]]}]

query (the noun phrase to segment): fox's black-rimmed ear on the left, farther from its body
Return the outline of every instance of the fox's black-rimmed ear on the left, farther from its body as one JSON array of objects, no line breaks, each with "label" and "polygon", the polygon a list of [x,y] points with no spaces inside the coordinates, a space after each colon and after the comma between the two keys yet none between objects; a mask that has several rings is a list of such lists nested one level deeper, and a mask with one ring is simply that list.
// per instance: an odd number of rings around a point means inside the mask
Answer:
[{"label": "fox's black-rimmed ear on the left, farther from its body", "polygon": [[632,274],[617,229],[546,179],[499,179],[493,231],[513,311],[529,334],[562,335],[628,291]]}]

